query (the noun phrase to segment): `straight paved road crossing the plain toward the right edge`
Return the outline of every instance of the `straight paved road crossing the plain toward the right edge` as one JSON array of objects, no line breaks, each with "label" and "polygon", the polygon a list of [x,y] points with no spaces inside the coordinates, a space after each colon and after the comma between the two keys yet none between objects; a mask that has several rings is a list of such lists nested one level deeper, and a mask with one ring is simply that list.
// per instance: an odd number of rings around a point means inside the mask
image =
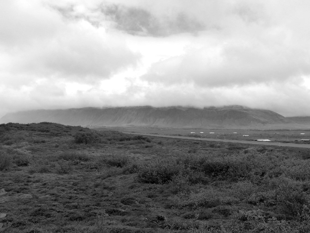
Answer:
[{"label": "straight paved road crossing the plain toward the right edge", "polygon": [[123,133],[153,136],[153,137],[170,137],[170,138],[200,140],[200,141],[222,141],[222,142],[245,143],[245,144],[267,145],[267,146],[288,146],[288,147],[298,147],[298,148],[310,148],[310,144],[294,144],[294,143],[280,143],[280,142],[267,142],[267,141],[243,141],[243,140],[215,139],[215,138],[203,138],[203,137],[184,137],[184,136],[171,136],[171,135],[164,135],[164,134],[149,134],[149,133],[129,133],[129,132],[123,132]]}]

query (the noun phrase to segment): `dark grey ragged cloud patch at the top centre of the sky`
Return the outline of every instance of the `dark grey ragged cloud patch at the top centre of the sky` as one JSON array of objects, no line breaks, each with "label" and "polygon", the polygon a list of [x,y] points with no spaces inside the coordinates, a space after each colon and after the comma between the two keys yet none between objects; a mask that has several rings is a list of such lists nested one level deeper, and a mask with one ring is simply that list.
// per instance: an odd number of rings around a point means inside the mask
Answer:
[{"label": "dark grey ragged cloud patch at the top centre of the sky", "polygon": [[206,29],[204,23],[185,12],[159,17],[146,9],[120,4],[101,4],[98,8],[90,9],[88,14],[78,13],[73,5],[54,8],[67,19],[84,19],[97,27],[102,25],[103,21],[110,21],[115,29],[139,36],[164,37],[179,33],[197,33]]}]

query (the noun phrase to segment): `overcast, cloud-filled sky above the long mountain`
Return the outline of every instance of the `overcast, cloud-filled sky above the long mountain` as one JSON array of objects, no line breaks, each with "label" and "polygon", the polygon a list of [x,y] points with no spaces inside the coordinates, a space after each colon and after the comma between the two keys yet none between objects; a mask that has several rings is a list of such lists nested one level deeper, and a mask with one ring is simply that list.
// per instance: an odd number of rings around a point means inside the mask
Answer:
[{"label": "overcast, cloud-filled sky above the long mountain", "polygon": [[1,0],[0,118],[243,105],[310,116],[308,0]]}]

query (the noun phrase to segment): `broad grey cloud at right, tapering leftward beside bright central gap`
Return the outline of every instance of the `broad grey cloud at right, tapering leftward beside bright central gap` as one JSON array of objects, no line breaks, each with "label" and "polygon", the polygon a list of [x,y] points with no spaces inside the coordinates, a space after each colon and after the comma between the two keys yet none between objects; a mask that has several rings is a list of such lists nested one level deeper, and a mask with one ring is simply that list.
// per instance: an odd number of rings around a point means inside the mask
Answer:
[{"label": "broad grey cloud at right, tapering leftward beside bright central gap", "polygon": [[[310,74],[309,53],[266,44],[219,44],[191,48],[185,54],[154,63],[143,76],[150,82],[233,86],[286,81]],[[299,78],[301,80],[301,78]]]}]

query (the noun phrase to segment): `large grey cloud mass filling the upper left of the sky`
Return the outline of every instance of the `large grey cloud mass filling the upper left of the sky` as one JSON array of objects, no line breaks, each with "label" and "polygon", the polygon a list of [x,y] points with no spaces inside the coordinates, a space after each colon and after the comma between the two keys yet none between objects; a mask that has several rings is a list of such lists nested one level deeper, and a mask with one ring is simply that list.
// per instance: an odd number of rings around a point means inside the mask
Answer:
[{"label": "large grey cloud mass filling the upper left of the sky", "polygon": [[95,82],[134,67],[140,59],[121,33],[107,34],[85,20],[65,21],[40,1],[0,4],[2,85],[17,87],[43,77]]}]

